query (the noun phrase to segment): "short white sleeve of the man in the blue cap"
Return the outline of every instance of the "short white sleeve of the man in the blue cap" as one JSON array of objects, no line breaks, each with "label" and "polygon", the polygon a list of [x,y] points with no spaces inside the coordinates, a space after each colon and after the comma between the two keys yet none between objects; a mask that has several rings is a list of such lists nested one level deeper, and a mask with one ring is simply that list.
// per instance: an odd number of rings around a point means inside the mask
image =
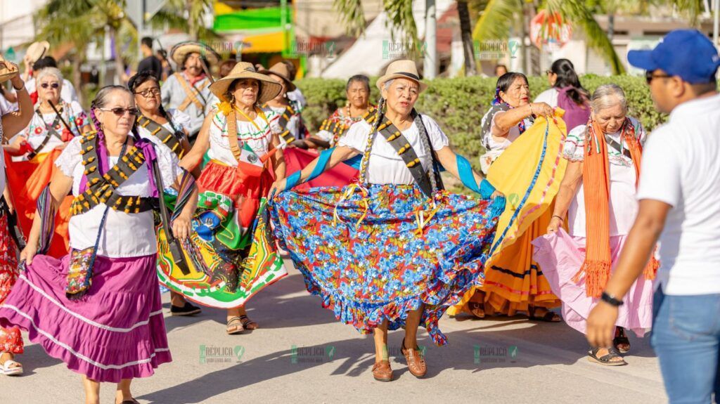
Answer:
[{"label": "short white sleeve of the man in the blue cap", "polygon": [[665,128],[655,129],[642,154],[637,200],[653,199],[678,206],[682,198],[681,160],[672,134]]}]

